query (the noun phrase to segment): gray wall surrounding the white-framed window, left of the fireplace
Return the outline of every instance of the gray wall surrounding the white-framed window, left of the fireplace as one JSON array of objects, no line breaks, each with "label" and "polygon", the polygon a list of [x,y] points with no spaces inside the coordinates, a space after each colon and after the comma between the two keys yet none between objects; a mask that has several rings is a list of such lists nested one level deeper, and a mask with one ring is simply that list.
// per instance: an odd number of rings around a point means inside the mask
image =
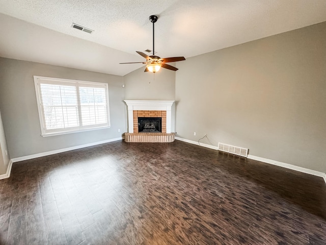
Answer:
[{"label": "gray wall surrounding the white-framed window, left of the fireplace", "polygon": [[[42,137],[33,75],[107,83],[111,128]],[[127,128],[122,83],[120,76],[0,58],[0,110],[11,158],[121,137]]]}]

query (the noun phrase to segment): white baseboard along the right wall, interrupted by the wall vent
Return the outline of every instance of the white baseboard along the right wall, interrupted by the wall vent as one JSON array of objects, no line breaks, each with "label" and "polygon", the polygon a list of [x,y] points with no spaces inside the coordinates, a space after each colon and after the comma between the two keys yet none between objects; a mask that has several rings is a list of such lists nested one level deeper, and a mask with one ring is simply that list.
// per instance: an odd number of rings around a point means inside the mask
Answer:
[{"label": "white baseboard along the right wall, interrupted by the wall vent", "polygon": [[[201,145],[201,146],[204,146],[204,147],[209,148],[209,149],[219,150],[219,148],[217,146],[214,146],[214,145],[204,144],[204,143],[199,144],[198,141],[183,139],[183,138],[180,138],[180,137],[175,137],[175,139],[180,140],[180,141],[184,141],[184,142],[187,142],[187,143],[191,143],[191,144]],[[248,155],[247,158],[257,160],[257,161],[260,161],[260,162],[265,162],[265,163],[277,165],[277,166],[280,166],[280,167],[285,167],[285,168],[295,170],[295,171],[300,171],[300,172],[305,173],[305,174],[322,177],[324,179],[325,183],[326,183],[326,174],[322,173],[322,172],[319,172],[319,171],[315,171],[315,170],[312,170],[312,169],[299,167],[299,166],[295,166],[295,165],[292,165],[292,164],[279,162],[279,161],[275,161],[275,160],[271,160],[271,159],[267,159],[267,158],[256,157],[256,156],[253,156],[253,155]]]}]

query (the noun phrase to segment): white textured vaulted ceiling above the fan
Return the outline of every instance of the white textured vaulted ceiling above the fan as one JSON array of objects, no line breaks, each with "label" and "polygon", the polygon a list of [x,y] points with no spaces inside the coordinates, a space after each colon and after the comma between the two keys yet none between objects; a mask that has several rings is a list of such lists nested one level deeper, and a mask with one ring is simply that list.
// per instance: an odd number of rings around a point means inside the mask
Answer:
[{"label": "white textured vaulted ceiling above the fan", "polygon": [[120,62],[152,50],[153,14],[156,55],[189,58],[323,22],[325,13],[326,0],[0,0],[0,56],[123,76],[144,65]]}]

